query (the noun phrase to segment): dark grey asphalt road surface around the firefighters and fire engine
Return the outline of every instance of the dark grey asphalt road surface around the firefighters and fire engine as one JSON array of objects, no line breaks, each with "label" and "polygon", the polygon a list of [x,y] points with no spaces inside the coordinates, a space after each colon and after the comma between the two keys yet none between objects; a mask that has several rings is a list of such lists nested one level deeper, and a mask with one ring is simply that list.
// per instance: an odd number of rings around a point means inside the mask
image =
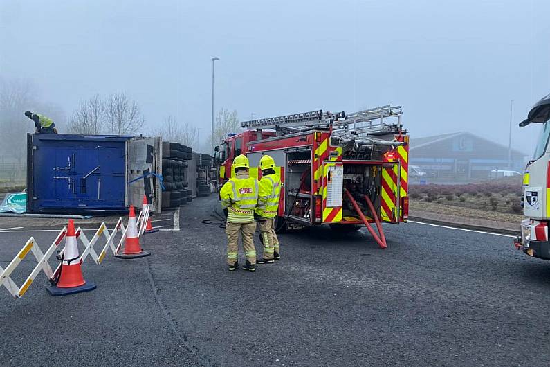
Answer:
[{"label": "dark grey asphalt road surface around the firefighters and fire engine", "polygon": [[[146,236],[149,258],[86,262],[93,292],[53,298],[44,276],[19,300],[2,289],[0,364],[543,366],[550,357],[550,262],[515,251],[511,238],[409,223],[385,226],[381,250],[364,230],[298,231],[279,236],[275,265],[229,273],[223,229],[201,224],[214,202],[184,206],[180,232]],[[0,265],[26,238],[0,233]],[[20,267],[22,277],[30,261]]]}]

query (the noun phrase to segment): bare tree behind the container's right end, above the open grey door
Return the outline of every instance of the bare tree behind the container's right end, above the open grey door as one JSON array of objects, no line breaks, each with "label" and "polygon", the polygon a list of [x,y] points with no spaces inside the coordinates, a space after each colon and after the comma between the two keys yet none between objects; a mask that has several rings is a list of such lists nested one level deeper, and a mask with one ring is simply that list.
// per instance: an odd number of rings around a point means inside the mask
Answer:
[{"label": "bare tree behind the container's right end, above the open grey door", "polygon": [[124,93],[111,94],[105,101],[107,107],[107,132],[113,135],[131,135],[143,127],[138,104]]}]

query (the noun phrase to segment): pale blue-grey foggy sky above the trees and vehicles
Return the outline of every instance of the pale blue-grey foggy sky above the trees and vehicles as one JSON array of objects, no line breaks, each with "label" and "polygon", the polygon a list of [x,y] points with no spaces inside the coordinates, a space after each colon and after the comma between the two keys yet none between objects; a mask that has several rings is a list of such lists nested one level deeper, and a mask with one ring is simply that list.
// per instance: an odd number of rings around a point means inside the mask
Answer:
[{"label": "pale blue-grey foggy sky above the trees and vehicles", "polygon": [[210,134],[216,106],[269,117],[403,105],[412,136],[471,131],[531,154],[550,93],[550,2],[0,0],[0,75],[67,115],[125,91],[147,124]]}]

